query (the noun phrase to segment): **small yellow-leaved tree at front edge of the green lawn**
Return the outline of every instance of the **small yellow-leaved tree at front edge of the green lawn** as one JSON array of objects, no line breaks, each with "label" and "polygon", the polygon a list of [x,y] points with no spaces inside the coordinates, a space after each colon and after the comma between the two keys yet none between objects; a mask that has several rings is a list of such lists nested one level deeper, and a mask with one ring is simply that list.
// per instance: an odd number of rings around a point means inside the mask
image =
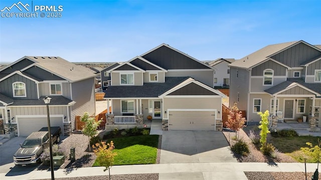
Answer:
[{"label": "small yellow-leaved tree at front edge of the green lawn", "polygon": [[104,171],[108,169],[110,180],[110,168],[114,164],[114,157],[117,155],[116,152],[113,152],[113,149],[115,148],[114,143],[113,141],[110,141],[110,143],[106,144],[105,141],[102,141],[101,144],[96,143],[95,145],[96,146],[92,145],[92,147],[94,148],[94,152],[97,155],[96,161],[100,165],[106,167]]}]

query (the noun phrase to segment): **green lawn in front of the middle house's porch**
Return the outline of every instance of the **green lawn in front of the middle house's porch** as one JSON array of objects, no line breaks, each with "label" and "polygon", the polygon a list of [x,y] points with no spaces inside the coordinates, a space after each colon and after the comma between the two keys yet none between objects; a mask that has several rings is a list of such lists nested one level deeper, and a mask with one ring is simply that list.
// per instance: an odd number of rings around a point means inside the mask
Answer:
[{"label": "green lawn in front of the middle house's porch", "polygon": [[[158,135],[118,137],[111,140],[114,142],[114,152],[117,152],[114,165],[156,163]],[[95,161],[93,166],[99,164]]]}]

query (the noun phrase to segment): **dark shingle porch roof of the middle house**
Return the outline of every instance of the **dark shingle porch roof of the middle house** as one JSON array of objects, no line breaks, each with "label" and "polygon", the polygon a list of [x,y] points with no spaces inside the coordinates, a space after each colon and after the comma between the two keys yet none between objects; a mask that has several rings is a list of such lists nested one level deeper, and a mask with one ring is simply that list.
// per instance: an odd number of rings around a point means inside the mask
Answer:
[{"label": "dark shingle porch roof of the middle house", "polygon": [[111,85],[104,97],[158,97],[190,77],[165,77],[164,83],[144,83],[143,85]]}]

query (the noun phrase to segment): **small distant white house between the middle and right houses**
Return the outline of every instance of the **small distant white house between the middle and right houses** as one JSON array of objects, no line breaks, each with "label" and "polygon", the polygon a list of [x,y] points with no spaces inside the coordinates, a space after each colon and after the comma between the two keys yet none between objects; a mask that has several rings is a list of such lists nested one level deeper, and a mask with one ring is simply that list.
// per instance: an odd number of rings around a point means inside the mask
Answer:
[{"label": "small distant white house between the middle and right houses", "polygon": [[230,85],[230,67],[228,64],[234,62],[234,58],[218,58],[208,62],[215,68],[214,86],[229,87]]}]

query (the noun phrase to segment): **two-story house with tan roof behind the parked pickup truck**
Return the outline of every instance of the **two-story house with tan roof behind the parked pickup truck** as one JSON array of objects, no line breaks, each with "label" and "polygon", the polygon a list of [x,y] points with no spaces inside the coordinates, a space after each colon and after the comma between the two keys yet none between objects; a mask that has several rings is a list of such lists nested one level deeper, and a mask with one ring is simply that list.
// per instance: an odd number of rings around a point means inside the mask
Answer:
[{"label": "two-story house with tan roof behind the parked pickup truck", "polygon": [[48,95],[51,125],[67,133],[76,115],[95,115],[95,76],[61,57],[24,56],[0,69],[0,118],[11,122],[18,135],[38,131],[48,126],[43,100]]}]

